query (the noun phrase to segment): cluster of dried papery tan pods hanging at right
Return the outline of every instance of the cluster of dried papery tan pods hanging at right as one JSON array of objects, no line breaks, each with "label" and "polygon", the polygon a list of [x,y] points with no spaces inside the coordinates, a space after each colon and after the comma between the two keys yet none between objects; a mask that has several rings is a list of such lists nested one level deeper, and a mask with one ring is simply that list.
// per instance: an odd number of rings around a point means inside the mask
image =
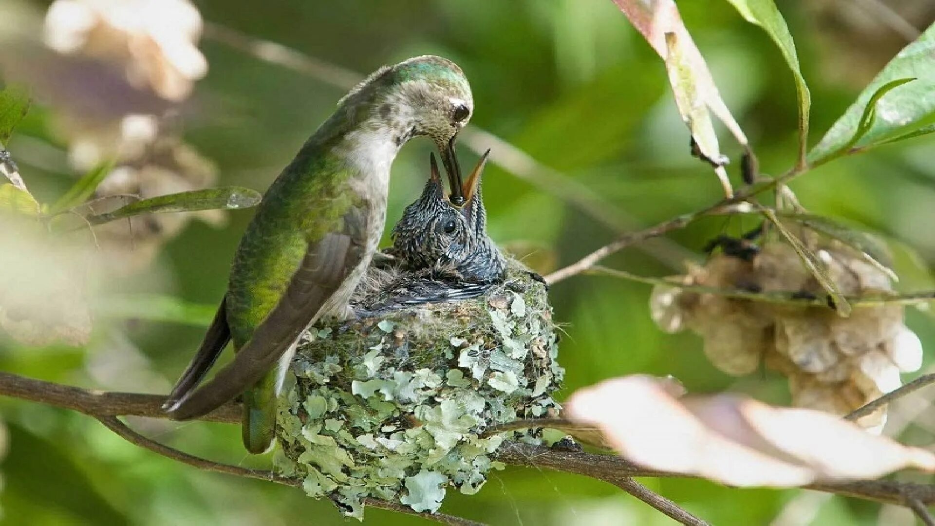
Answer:
[{"label": "cluster of dried papery tan pods hanging at right", "polygon": [[[885,271],[835,242],[819,247],[827,273],[848,297],[892,292]],[[651,299],[656,323],[669,332],[691,329],[704,339],[715,367],[732,375],[753,373],[761,363],[789,379],[792,402],[846,415],[901,385],[900,372],[922,365],[922,345],[903,325],[899,304],[856,304],[848,317],[825,305],[796,304],[824,290],[795,251],[767,242],[755,256],[713,256],[678,281],[723,290],[789,293],[787,302],[657,286]],[[885,409],[858,424],[881,431]]]}]

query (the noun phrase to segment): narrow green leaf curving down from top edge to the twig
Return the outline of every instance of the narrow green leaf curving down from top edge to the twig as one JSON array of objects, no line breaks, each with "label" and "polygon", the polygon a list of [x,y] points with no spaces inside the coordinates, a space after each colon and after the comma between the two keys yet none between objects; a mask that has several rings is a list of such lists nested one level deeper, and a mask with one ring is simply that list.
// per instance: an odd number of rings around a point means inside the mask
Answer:
[{"label": "narrow green leaf curving down from top edge to the twig", "polygon": [[740,11],[741,16],[750,23],[763,28],[772,41],[783,53],[783,58],[796,80],[796,95],[798,96],[798,141],[799,157],[803,158],[807,150],[809,137],[809,112],[812,109],[812,94],[805,83],[805,77],[798,66],[798,53],[796,44],[785,24],[783,14],[779,12],[772,0],[727,0]]}]

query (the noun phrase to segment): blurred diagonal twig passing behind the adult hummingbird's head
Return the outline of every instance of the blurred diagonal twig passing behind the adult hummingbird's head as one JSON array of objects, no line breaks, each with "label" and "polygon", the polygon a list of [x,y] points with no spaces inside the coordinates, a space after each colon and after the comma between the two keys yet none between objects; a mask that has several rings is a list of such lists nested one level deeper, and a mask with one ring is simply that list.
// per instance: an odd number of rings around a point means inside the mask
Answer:
[{"label": "blurred diagonal twig passing behind the adult hummingbird's head", "polygon": [[[240,33],[236,29],[218,23],[207,22],[205,24],[205,37],[237,51],[245,52],[257,60],[285,67],[341,90],[351,89],[357,82],[364,80],[363,75],[350,69],[309,56],[277,42]],[[640,225],[637,218],[613,206],[587,186],[554,168],[543,165],[529,153],[525,153],[509,141],[486,130],[468,125],[461,132],[460,140],[474,153],[482,154],[488,149],[492,150],[491,163],[539,190],[558,197],[614,232],[626,232]],[[683,261],[692,256],[678,243],[671,241],[660,241],[656,246],[643,247],[643,251],[672,269],[681,269]]]}]

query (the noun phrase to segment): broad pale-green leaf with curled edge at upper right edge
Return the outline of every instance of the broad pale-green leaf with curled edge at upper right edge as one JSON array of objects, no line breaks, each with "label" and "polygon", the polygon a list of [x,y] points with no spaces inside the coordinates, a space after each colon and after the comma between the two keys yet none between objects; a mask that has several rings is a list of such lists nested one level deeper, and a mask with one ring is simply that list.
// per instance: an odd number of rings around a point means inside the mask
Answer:
[{"label": "broad pale-green leaf with curled edge at upper right edge", "polygon": [[[885,97],[879,93],[888,84],[897,80],[916,79]],[[890,86],[886,91],[896,86]],[[872,111],[872,123],[861,132],[868,111]],[[918,126],[931,124],[935,113],[935,24],[921,37],[899,51],[857,97],[854,104],[838,119],[825,137],[809,153],[809,162],[819,165],[834,158],[848,146],[857,133],[861,137],[853,144],[867,148],[889,142],[896,136],[911,135]],[[906,139],[906,137],[903,137]]]}]

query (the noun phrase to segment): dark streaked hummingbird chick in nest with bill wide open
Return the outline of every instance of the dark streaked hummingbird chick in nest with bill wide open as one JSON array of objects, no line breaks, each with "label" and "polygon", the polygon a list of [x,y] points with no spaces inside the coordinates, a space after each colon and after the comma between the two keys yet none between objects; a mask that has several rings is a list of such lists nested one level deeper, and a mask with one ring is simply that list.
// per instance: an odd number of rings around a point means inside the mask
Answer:
[{"label": "dark streaked hummingbird chick in nest with bill wide open", "polygon": [[352,304],[358,315],[380,314],[406,305],[466,300],[482,295],[505,278],[506,260],[487,236],[481,196],[484,153],[461,187],[463,205],[445,196],[435,155],[431,175],[415,202],[393,228],[396,266],[371,268]]}]

